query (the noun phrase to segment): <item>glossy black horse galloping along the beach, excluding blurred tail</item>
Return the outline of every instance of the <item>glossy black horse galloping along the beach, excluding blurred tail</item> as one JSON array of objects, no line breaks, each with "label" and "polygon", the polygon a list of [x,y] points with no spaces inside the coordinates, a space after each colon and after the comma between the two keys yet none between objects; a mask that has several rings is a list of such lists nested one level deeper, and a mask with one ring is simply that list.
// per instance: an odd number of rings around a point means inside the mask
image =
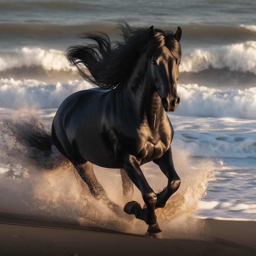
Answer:
[{"label": "glossy black horse galloping along the beach, excluding blurred tail", "polygon": [[[144,220],[147,234],[156,237],[161,230],[155,209],[164,207],[180,186],[170,147],[173,127],[165,111],[174,111],[180,102],[176,89],[182,31],[178,27],[173,34],[125,22],[119,27],[121,42],[111,44],[104,33],[87,33],[83,38],[96,43],[67,50],[70,64],[100,88],[76,92],[63,101],[53,120],[52,137],[92,195],[114,210],[118,206],[107,198],[92,165],[120,168],[124,194],[133,189],[133,182],[145,202],[143,209],[128,202],[124,211]],[[166,188],[157,194],[140,168],[150,161],[168,178]]]}]

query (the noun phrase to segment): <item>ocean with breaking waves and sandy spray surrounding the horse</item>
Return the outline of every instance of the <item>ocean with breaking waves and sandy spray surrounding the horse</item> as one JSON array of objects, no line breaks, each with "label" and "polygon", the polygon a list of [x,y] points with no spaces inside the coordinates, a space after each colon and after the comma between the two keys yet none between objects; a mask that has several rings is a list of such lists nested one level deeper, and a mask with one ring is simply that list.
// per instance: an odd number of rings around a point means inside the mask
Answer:
[{"label": "ocean with breaking waves and sandy spray surrounding the horse", "polygon": [[[0,0],[0,212],[76,218],[103,228],[123,223],[121,218],[110,223],[103,204],[81,196],[72,166],[57,152],[40,159],[54,162],[50,170],[31,162],[27,152],[33,151],[18,143],[8,124],[50,125],[68,95],[91,88],[63,53],[83,43],[77,37],[83,31],[103,31],[118,40],[114,29],[124,19],[173,31],[180,26],[183,33],[181,102],[167,114],[182,186],[157,210],[159,218],[256,220],[255,13],[254,0]],[[142,168],[155,191],[166,186],[156,166]],[[96,168],[96,173],[112,200],[123,205],[118,170]],[[136,197],[141,200],[135,189]]]}]

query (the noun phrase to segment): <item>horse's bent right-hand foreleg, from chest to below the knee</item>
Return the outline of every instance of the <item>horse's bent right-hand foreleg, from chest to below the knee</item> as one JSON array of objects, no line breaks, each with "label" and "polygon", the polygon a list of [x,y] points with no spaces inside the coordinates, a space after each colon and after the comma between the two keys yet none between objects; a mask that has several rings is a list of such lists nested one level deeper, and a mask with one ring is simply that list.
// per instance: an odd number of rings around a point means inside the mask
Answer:
[{"label": "horse's bent right-hand foreleg, from chest to below the knee", "polygon": [[173,195],[180,187],[180,178],[177,175],[174,164],[173,164],[173,156],[171,152],[171,148],[169,148],[162,157],[157,160],[154,160],[155,164],[157,164],[161,171],[168,178],[168,184],[166,188],[157,194],[157,203],[155,208],[164,207],[166,205],[167,200]]}]

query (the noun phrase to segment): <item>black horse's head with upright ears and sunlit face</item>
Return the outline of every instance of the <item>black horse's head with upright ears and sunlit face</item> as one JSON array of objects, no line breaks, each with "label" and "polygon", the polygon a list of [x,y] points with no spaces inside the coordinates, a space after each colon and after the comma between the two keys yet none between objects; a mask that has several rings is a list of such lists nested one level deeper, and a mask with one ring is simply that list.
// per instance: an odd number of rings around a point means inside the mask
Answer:
[{"label": "black horse's head with upright ears and sunlit face", "polygon": [[177,95],[177,80],[181,58],[180,38],[182,31],[178,27],[174,35],[164,36],[149,29],[150,40],[157,45],[148,62],[149,82],[155,87],[165,111],[174,111],[180,103]]}]

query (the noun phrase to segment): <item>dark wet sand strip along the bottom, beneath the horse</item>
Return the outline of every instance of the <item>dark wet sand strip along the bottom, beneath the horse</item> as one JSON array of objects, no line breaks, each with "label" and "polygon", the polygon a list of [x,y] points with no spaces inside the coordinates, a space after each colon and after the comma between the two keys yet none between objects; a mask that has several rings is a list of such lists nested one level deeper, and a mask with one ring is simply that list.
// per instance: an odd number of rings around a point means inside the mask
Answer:
[{"label": "dark wet sand strip along the bottom, beneath the horse", "polygon": [[[4,220],[5,219],[5,220]],[[0,218],[0,255],[256,255],[256,222],[205,220],[204,238],[153,239]],[[22,221],[20,221],[22,222]]]}]

